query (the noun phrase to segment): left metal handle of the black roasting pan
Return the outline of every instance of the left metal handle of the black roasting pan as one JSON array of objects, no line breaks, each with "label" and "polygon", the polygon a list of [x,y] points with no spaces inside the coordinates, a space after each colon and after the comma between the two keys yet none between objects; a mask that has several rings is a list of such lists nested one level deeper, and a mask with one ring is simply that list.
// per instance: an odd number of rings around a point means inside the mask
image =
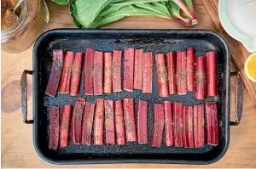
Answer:
[{"label": "left metal handle of the black roasting pan", "polygon": [[25,124],[32,124],[33,120],[27,120],[27,79],[26,74],[32,75],[32,70],[24,70],[20,79],[20,92],[21,92],[21,115],[22,121]]}]

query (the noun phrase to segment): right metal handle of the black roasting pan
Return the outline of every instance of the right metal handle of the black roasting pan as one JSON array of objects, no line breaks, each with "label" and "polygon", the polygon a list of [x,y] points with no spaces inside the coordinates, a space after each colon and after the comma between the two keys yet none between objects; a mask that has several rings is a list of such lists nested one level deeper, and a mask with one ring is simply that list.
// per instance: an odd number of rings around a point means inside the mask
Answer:
[{"label": "right metal handle of the black roasting pan", "polygon": [[236,76],[236,121],[230,121],[230,126],[237,126],[241,121],[243,89],[242,79],[239,71],[230,72],[230,76]]}]

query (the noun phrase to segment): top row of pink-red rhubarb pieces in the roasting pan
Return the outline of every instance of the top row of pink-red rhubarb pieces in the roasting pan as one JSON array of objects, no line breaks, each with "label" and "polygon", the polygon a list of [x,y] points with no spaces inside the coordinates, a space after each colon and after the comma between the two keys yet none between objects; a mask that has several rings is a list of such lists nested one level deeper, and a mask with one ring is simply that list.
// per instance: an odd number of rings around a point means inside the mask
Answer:
[{"label": "top row of pink-red rhubarb pieces in the roasting pan", "polygon": [[[194,48],[186,51],[155,54],[155,67],[160,97],[173,93],[195,92],[195,99],[217,96],[215,51],[195,57]],[[152,52],[143,48],[125,48],[124,89],[152,93]],[[85,54],[53,50],[53,62],[45,93],[55,97],[59,93],[79,95],[80,79],[84,60],[84,93],[103,95],[122,91],[122,51],[103,53],[86,48]],[[167,64],[166,64],[167,63]],[[59,84],[60,83],[60,84]]]}]

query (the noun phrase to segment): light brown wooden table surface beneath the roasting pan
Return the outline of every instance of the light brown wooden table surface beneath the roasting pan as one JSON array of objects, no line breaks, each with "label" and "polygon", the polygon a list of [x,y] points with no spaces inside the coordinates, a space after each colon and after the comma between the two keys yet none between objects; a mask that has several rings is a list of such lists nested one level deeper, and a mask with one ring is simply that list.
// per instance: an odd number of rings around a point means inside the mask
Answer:
[{"label": "light brown wooden table surface beneath the roasting pan", "polygon": [[[214,25],[201,0],[194,0],[195,14],[199,24],[193,29],[211,29]],[[48,2],[49,29],[73,28],[69,7]],[[108,28],[185,29],[183,25],[156,17],[129,17]],[[245,50],[245,49],[244,49]],[[32,70],[32,46],[20,54],[2,54],[2,166],[3,167],[256,167],[256,106],[244,90],[241,124],[230,127],[230,147],[224,157],[208,166],[186,166],[166,164],[108,164],[87,166],[55,166],[43,161],[32,143],[32,125],[25,125],[20,115],[20,76],[23,70]],[[234,70],[234,66],[231,66]],[[32,78],[28,76],[30,99],[29,118],[32,118]],[[231,119],[236,112],[236,80],[231,78]]]}]

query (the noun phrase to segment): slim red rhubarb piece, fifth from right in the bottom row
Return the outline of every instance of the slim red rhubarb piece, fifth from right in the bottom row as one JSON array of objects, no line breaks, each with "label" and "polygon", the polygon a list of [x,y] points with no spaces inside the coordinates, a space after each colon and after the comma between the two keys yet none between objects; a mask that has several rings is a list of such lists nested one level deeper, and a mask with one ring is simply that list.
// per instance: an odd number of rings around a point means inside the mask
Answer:
[{"label": "slim red rhubarb piece, fifth from right in the bottom row", "polygon": [[172,103],[164,101],[165,108],[165,140],[166,146],[173,145],[173,121],[172,121]]}]

